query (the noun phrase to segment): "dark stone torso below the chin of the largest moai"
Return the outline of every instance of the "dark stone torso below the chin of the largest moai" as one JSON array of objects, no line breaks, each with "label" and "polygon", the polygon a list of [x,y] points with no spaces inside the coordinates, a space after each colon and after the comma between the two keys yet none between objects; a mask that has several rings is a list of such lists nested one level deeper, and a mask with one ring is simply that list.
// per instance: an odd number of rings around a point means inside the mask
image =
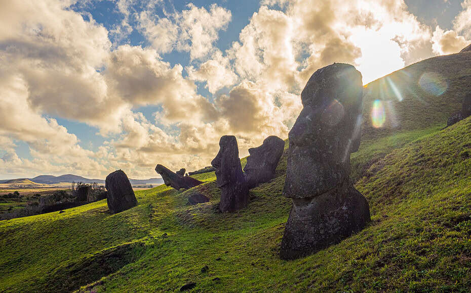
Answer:
[{"label": "dark stone torso below the chin of the largest moai", "polygon": [[340,242],[370,221],[370,209],[362,194],[345,182],[320,196],[293,199],[280,258],[297,259]]}]

